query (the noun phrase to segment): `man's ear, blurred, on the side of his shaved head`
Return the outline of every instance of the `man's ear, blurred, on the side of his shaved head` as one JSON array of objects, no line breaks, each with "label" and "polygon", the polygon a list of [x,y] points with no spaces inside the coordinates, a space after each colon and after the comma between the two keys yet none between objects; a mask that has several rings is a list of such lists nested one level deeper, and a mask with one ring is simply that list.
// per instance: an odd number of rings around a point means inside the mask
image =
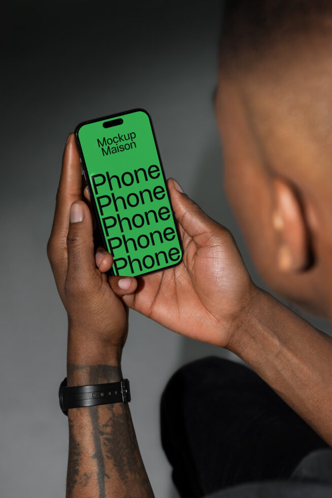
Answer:
[{"label": "man's ear, blurred, on the side of his shaved head", "polygon": [[276,233],[277,267],[283,272],[305,270],[311,265],[312,254],[301,200],[287,180],[275,177],[272,184],[272,224]]}]

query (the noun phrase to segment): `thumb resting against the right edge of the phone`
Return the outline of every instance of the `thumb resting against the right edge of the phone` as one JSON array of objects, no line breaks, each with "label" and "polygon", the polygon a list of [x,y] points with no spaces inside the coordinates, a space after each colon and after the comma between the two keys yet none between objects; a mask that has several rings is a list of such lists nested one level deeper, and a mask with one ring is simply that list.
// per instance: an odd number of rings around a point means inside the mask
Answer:
[{"label": "thumb resting against the right edge of the phone", "polygon": [[201,235],[207,231],[210,237],[223,227],[212,220],[187,194],[174,178],[168,179],[172,206],[177,221],[190,237]]}]

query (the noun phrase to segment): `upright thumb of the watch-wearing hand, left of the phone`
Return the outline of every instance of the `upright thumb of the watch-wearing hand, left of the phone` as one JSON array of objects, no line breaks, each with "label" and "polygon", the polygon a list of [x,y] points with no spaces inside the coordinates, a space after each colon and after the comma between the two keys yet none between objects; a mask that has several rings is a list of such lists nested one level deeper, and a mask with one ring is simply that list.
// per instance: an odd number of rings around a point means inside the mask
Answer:
[{"label": "upright thumb of the watch-wearing hand, left of the phone", "polygon": [[75,201],[70,208],[70,223],[67,235],[68,268],[70,281],[83,283],[83,276],[95,276],[95,259],[92,219],[84,201]]}]

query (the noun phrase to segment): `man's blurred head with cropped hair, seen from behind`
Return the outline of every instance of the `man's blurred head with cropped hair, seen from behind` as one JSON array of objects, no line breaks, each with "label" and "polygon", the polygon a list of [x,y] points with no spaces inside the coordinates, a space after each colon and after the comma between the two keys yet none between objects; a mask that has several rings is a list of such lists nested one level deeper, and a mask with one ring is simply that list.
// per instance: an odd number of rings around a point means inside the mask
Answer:
[{"label": "man's blurred head with cropped hair, seen from behind", "polygon": [[226,1],[215,105],[225,190],[258,271],[328,316],[332,2]]}]

